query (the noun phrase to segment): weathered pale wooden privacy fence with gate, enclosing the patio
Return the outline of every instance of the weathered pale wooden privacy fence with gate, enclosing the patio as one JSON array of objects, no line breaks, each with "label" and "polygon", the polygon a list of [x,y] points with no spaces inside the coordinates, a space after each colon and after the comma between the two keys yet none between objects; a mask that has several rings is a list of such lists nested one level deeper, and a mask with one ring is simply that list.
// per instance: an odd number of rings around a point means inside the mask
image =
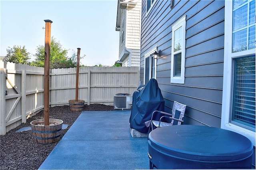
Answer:
[{"label": "weathered pale wooden privacy fence with gate, enclosing the patio", "polygon": [[[0,61],[0,134],[44,108],[44,68]],[[87,105],[114,105],[117,93],[139,85],[139,67],[81,67],[78,99]],[[50,107],[75,99],[76,68],[50,70]]]}]

